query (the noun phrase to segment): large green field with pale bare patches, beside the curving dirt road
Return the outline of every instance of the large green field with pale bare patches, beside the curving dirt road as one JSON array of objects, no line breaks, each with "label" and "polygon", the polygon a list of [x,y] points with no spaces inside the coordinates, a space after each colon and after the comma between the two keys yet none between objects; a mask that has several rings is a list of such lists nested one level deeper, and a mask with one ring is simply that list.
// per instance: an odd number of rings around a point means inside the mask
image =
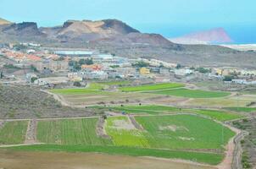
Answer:
[{"label": "large green field with pale bare patches, beside the curving dirt road", "polygon": [[219,123],[193,115],[136,117],[136,121],[147,130],[152,148],[222,150],[235,135]]}]

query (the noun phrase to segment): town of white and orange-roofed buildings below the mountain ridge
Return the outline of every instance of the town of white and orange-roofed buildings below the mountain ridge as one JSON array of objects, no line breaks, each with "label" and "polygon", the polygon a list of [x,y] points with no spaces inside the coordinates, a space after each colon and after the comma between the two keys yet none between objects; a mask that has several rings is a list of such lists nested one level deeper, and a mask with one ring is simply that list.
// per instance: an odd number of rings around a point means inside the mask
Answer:
[{"label": "town of white and orange-roofed buildings below the mountain ridge", "polygon": [[2,44],[0,82],[55,87],[86,85],[90,80],[143,82],[222,81],[256,85],[256,69],[203,68],[157,59],[126,58],[98,50],[47,48],[36,43]]}]

